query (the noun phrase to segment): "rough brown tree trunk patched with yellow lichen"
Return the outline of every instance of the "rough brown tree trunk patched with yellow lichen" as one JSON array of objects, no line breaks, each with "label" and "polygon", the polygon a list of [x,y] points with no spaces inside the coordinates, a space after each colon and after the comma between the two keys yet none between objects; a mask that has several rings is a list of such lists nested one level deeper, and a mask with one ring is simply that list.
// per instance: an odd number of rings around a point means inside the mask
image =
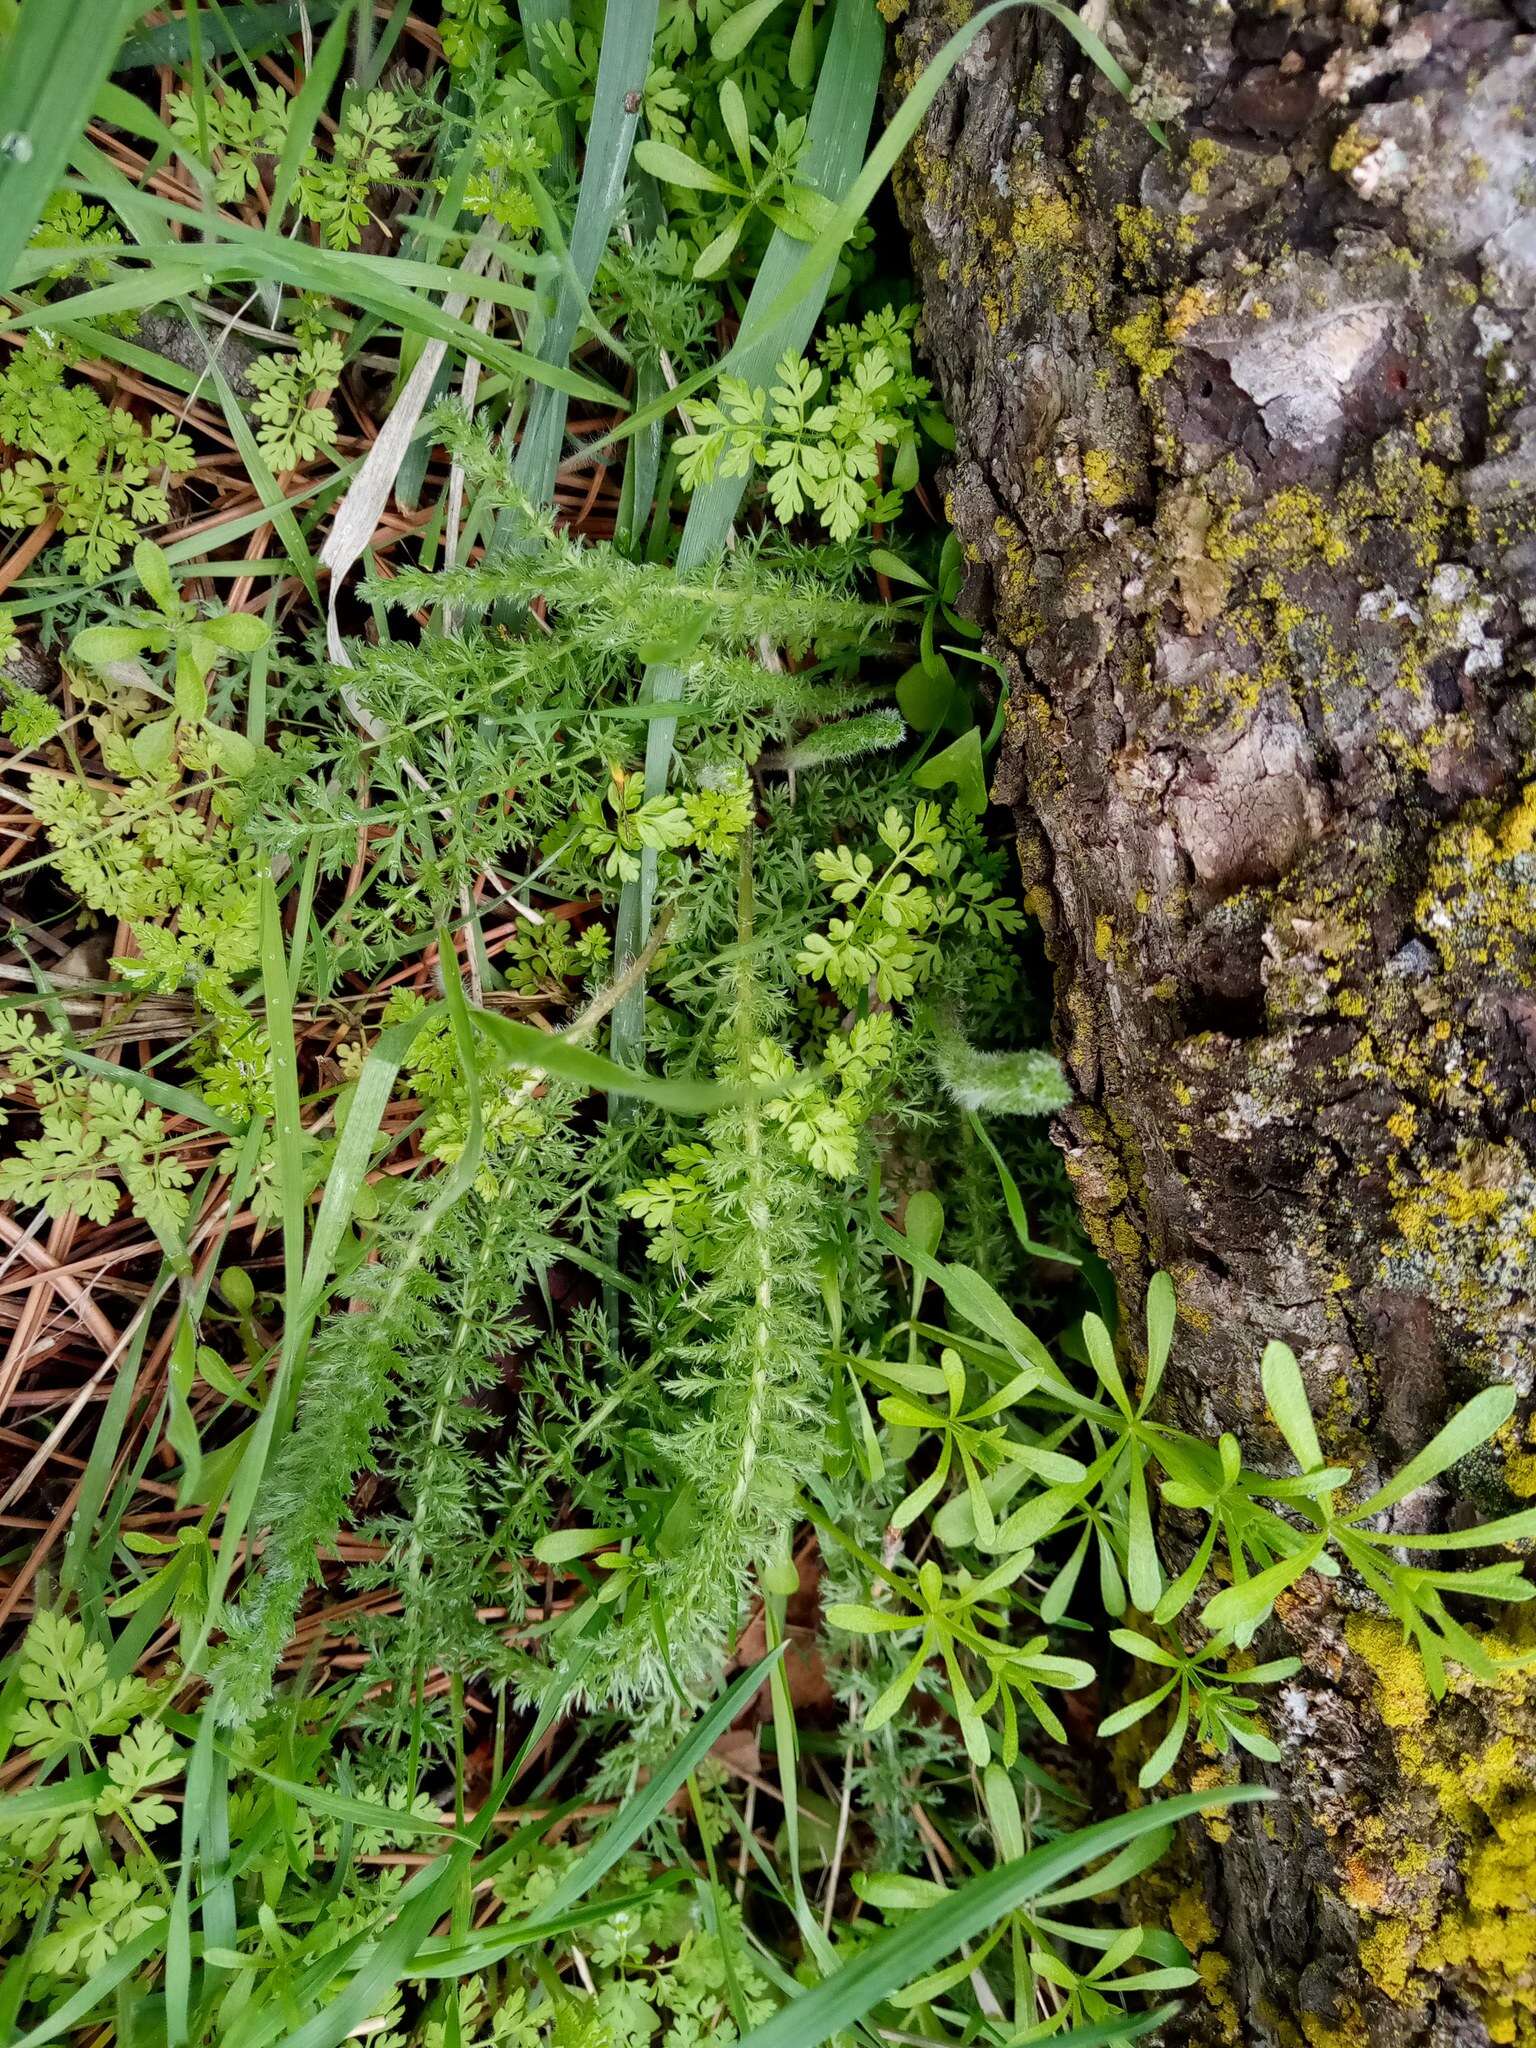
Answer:
[{"label": "rough brown tree trunk patched with yellow lichen", "polygon": [[[885,10],[897,84],[969,12]],[[901,184],[1087,1227],[1126,1300],[1174,1272],[1186,1421],[1274,1448],[1284,1337],[1366,1473],[1532,1386],[1532,27],[1118,0],[1163,152],[1010,14]],[[1399,1513],[1520,1505],[1505,1436]],[[1434,1706],[1348,1583],[1280,1626],[1286,1802],[1212,1827],[1176,1911],[1194,2034],[1536,2042],[1536,1683]]]}]

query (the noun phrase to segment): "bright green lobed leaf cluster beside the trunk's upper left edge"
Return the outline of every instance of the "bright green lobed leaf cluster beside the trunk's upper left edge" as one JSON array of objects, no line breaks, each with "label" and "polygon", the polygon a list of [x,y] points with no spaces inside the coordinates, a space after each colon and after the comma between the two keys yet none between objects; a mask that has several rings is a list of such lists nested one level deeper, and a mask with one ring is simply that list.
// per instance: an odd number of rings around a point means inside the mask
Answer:
[{"label": "bright green lobed leaf cluster beside the trunk's upper left edge", "polygon": [[[678,440],[690,489],[762,467],[774,514],[788,522],[813,510],[834,541],[901,516],[918,481],[915,416],[932,385],[911,369],[915,307],[889,305],[862,326],[834,328],[817,354],[784,356],[774,383],[721,377]],[[881,481],[889,457],[889,485]]]}]

